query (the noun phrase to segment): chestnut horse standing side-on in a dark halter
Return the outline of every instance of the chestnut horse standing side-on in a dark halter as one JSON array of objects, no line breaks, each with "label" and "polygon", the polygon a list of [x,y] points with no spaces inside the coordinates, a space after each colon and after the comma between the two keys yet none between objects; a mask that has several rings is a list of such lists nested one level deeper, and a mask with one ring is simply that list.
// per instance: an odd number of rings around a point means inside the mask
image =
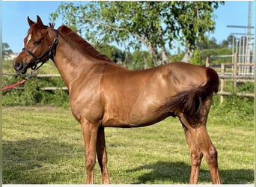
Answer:
[{"label": "chestnut horse standing side-on in a dark halter", "polygon": [[149,70],[126,70],[100,54],[67,26],[57,30],[28,17],[30,28],[13,68],[25,74],[52,59],[67,85],[73,116],[85,142],[86,183],[94,183],[96,155],[104,184],[109,183],[105,127],[149,126],[179,117],[192,163],[189,183],[198,182],[201,159],[220,183],[217,151],[206,123],[219,77],[208,68],[174,62]]}]

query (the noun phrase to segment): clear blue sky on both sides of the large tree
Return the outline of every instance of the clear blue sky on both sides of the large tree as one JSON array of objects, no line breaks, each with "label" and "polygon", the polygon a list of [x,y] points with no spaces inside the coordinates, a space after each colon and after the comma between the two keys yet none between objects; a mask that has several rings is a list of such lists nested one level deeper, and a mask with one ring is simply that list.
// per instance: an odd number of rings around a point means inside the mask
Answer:
[{"label": "clear blue sky on both sides of the large tree", "polygon": [[[28,31],[29,16],[36,21],[39,15],[45,25],[50,22],[49,16],[55,12],[62,1],[2,1],[2,42],[7,43],[13,52],[20,52],[23,48],[23,39]],[[67,2],[67,1],[66,1]],[[79,3],[86,3],[85,1]],[[216,30],[211,37],[215,37],[217,43],[226,40],[231,33],[246,33],[246,28],[228,28],[227,25],[248,25],[249,1],[225,1],[225,5],[219,5],[215,10]],[[252,1],[251,24],[255,26],[255,1]],[[63,22],[57,19],[55,28]],[[255,29],[252,29],[255,33]]]}]

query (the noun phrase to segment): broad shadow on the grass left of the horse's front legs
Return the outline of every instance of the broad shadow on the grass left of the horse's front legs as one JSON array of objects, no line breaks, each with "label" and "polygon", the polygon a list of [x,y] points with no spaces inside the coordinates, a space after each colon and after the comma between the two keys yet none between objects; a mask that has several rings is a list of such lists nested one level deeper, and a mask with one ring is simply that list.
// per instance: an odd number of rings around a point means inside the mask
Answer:
[{"label": "broad shadow on the grass left of the horse's front legs", "polygon": [[56,138],[3,140],[2,151],[4,184],[67,183],[84,174],[83,147]]}]

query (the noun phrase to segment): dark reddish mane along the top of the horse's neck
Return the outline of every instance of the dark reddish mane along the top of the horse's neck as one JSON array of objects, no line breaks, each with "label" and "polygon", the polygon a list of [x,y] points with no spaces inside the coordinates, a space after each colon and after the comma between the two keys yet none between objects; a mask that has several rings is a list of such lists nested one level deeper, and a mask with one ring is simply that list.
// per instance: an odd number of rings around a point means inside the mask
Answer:
[{"label": "dark reddish mane along the top of the horse's neck", "polygon": [[72,43],[73,46],[76,46],[76,49],[78,49],[80,52],[88,54],[99,60],[111,61],[106,55],[98,52],[96,49],[94,49],[93,46],[91,46],[90,43],[85,41],[82,37],[80,37],[78,34],[76,34],[76,32],[72,31],[67,26],[60,26],[58,31],[64,36],[64,39],[67,40],[68,43]]}]

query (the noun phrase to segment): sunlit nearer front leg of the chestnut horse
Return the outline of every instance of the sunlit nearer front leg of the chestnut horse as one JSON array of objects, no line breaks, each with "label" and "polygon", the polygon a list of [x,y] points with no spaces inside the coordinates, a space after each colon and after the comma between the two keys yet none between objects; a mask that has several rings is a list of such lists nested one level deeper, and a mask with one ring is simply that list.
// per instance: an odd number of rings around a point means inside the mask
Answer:
[{"label": "sunlit nearer front leg of the chestnut horse", "polygon": [[82,135],[85,142],[85,168],[87,173],[86,184],[93,184],[98,126],[90,123],[86,119],[81,120],[81,125]]}]

